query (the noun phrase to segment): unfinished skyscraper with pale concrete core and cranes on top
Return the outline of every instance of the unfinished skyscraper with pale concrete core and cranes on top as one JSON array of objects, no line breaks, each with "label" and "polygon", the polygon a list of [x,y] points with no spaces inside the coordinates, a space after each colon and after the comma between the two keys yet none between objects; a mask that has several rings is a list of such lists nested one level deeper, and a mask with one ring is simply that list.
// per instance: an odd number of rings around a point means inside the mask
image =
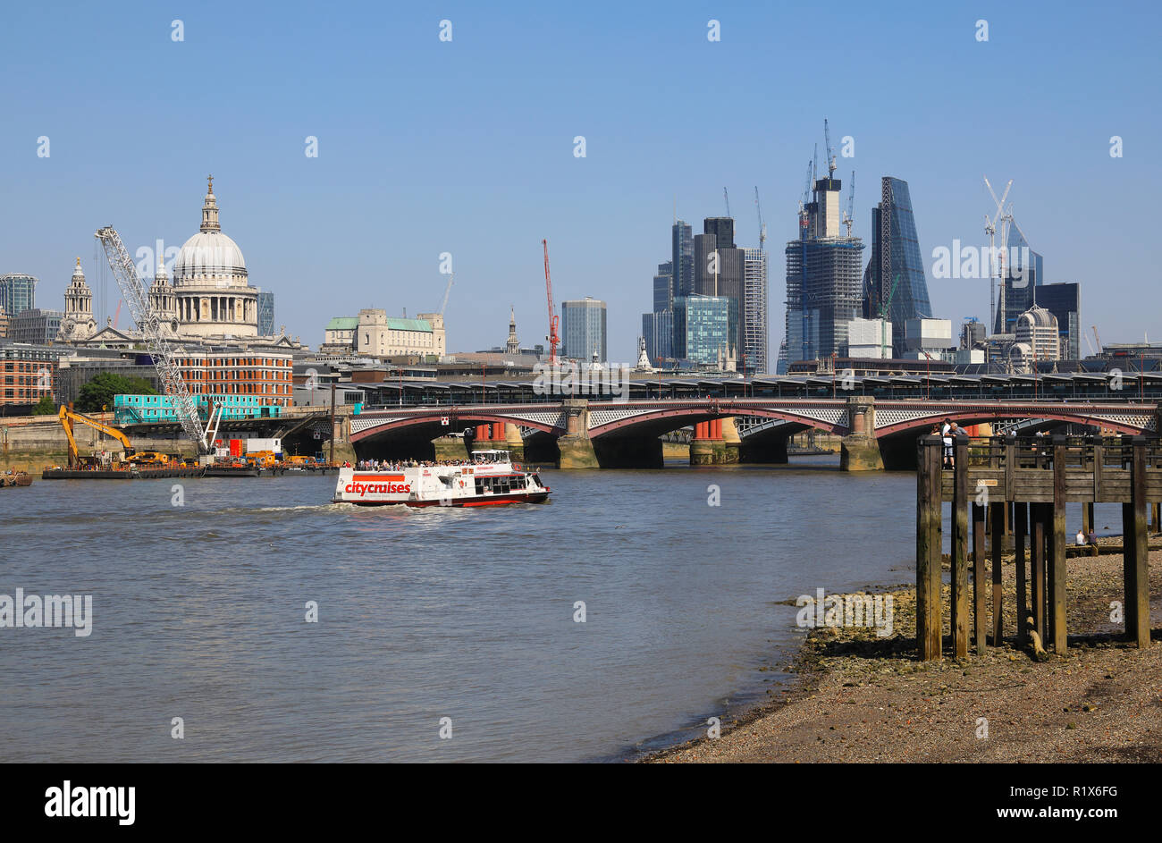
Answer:
[{"label": "unfinished skyscraper with pale concrete core and cranes on top", "polygon": [[829,172],[811,184],[812,200],[804,195],[799,207],[799,237],[786,250],[788,362],[846,353],[847,323],[862,309],[863,241],[840,236],[840,180]]}]

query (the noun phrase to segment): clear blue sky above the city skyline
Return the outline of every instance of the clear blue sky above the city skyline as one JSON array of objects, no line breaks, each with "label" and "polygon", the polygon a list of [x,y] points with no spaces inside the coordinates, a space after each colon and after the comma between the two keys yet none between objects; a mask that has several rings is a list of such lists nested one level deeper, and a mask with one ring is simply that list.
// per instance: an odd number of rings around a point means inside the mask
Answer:
[{"label": "clear blue sky above the city skyline", "polygon": [[[98,277],[98,227],[180,245],[213,172],[251,283],[311,345],[361,307],[437,308],[445,251],[450,350],[503,344],[510,305],[540,342],[547,237],[557,301],[607,300],[610,357],[630,360],[675,197],[701,230],[729,187],[739,245],[756,245],[758,186],[773,357],[827,117],[837,147],[855,142],[838,174],[856,171],[865,242],[882,176],[909,183],[925,256],[987,244],[982,174],[1011,178],[1046,280],[1083,285],[1083,324],[1159,341],[1160,19],[1148,2],[9,5],[0,272],[63,307],[74,256]],[[987,317],[987,280],[928,284],[937,315]]]}]

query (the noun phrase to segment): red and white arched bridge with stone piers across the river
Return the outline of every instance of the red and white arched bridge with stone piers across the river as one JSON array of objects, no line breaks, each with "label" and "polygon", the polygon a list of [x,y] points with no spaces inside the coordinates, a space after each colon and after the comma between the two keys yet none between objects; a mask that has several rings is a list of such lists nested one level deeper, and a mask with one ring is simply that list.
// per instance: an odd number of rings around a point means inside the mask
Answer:
[{"label": "red and white arched bridge with stone piers across the river", "polygon": [[[469,446],[503,446],[562,469],[661,467],[660,436],[694,427],[691,463],[786,463],[787,441],[815,429],[841,438],[848,471],[916,466],[916,441],[951,419],[1023,431],[1073,423],[1107,435],[1156,435],[1156,402],[700,398],[681,400],[400,407],[351,419],[360,457],[431,458],[433,442],[460,435]],[[487,443],[487,444],[486,444]],[[459,445],[462,448],[462,444]]]}]

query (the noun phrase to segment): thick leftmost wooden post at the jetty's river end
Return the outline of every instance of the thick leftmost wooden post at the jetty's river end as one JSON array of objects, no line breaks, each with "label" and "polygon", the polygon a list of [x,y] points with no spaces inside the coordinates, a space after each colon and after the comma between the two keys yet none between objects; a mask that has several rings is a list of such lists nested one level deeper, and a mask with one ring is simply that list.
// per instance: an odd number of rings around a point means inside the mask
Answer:
[{"label": "thick leftmost wooden post at the jetty's river end", "polygon": [[940,653],[941,449],[939,436],[923,436],[916,472],[916,646],[921,662]]}]

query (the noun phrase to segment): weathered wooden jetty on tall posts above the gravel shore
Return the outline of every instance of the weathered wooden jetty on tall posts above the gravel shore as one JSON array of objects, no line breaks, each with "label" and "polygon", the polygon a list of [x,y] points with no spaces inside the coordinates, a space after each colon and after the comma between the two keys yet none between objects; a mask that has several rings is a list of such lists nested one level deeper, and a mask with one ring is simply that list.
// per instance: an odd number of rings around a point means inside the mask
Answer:
[{"label": "weathered wooden jetty on tall posts above the gravel shore", "polygon": [[[1157,526],[1162,501],[1160,441],[1145,436],[1020,440],[957,436],[954,442],[954,469],[942,465],[944,443],[939,436],[924,436],[917,444],[916,640],[920,659],[942,657],[945,501],[952,503],[949,610],[954,657],[968,656],[970,637],[974,649],[982,655],[989,644],[997,646],[1004,640],[1000,563],[1004,536],[1010,529],[1017,565],[1017,642],[1025,645],[1035,633],[1046,649],[1052,645],[1056,652],[1064,652],[1068,645],[1066,505],[1075,502],[1083,505],[1085,531],[1092,529],[1093,503],[1121,503],[1125,634],[1133,644],[1149,646],[1147,516],[1153,513]],[[983,571],[989,553],[992,576],[987,584]]]}]

